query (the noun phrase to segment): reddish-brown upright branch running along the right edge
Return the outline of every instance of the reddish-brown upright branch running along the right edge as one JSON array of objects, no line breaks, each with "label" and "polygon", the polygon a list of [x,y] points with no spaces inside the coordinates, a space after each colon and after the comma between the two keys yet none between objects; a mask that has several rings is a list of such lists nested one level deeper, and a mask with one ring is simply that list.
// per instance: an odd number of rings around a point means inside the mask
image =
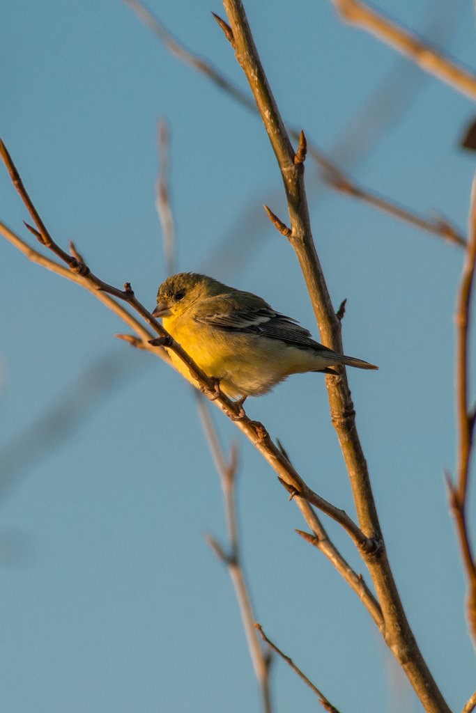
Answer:
[{"label": "reddish-brown upright branch running along the right edge", "polygon": [[468,241],[465,265],[462,270],[460,291],[455,314],[456,322],[456,401],[457,401],[457,484],[447,478],[450,489],[450,503],[457,535],[460,542],[462,560],[469,583],[467,596],[467,618],[470,632],[476,645],[476,562],[472,552],[470,533],[467,526],[467,493],[470,478],[472,441],[475,419],[469,404],[469,359],[471,294],[476,264],[476,175],[472,183],[470,207],[470,240]]}]

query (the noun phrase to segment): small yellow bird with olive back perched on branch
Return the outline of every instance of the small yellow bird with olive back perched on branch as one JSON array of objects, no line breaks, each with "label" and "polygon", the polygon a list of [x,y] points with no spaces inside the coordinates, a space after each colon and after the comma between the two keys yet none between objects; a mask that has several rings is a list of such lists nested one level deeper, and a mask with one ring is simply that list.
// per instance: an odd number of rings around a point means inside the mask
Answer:
[{"label": "small yellow bird with olive back perched on branch", "polygon": [[[261,297],[227,287],[216,279],[180,272],[158,288],[153,317],[181,344],[208,376],[219,379],[220,388],[232,398],[261,396],[290,374],[324,371],[347,364],[358,369],[378,369],[362,359],[323,347]],[[188,368],[169,351],[171,360],[186,379]]]}]

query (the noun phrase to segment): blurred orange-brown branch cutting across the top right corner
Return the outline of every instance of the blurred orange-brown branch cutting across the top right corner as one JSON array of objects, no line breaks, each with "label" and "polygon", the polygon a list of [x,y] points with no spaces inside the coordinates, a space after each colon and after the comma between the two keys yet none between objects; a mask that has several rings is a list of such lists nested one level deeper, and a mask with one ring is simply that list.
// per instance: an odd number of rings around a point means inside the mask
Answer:
[{"label": "blurred orange-brown branch cutting across the top right corner", "polygon": [[476,99],[475,73],[445,57],[415,34],[403,29],[395,20],[370,8],[360,0],[331,0],[340,16],[374,34],[409,57],[425,71],[449,84],[453,89]]}]

